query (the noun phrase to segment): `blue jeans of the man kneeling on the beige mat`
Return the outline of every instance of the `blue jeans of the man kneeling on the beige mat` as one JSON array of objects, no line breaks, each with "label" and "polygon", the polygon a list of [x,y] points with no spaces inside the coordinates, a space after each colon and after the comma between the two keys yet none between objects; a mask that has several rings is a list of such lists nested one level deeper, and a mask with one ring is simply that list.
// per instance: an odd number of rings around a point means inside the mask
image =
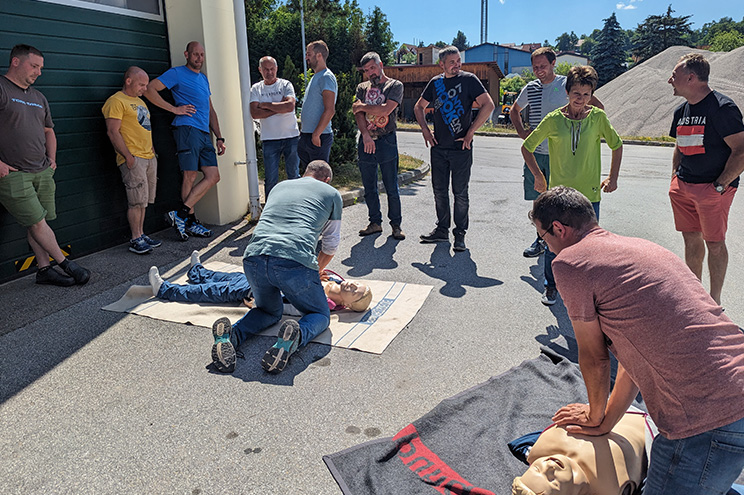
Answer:
[{"label": "blue jeans of the man kneeling on the beige mat", "polygon": [[299,322],[301,346],[328,328],[331,312],[318,270],[267,255],[243,258],[243,270],[253,288],[255,307],[233,325],[235,348],[282,318],[282,293],[304,315]]}]

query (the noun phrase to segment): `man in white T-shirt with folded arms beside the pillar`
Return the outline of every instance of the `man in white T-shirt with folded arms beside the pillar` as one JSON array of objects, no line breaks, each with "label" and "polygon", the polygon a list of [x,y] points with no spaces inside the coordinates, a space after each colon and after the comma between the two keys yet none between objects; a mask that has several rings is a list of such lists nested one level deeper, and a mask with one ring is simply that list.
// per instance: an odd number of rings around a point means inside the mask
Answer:
[{"label": "man in white T-shirt with folded arms beside the pillar", "polygon": [[273,57],[258,61],[258,71],[263,77],[251,87],[251,116],[261,120],[261,145],[264,156],[264,195],[269,199],[271,189],[279,182],[279,158],[284,156],[284,169],[288,179],[300,178],[300,158],[292,83],[276,77],[277,64]]}]

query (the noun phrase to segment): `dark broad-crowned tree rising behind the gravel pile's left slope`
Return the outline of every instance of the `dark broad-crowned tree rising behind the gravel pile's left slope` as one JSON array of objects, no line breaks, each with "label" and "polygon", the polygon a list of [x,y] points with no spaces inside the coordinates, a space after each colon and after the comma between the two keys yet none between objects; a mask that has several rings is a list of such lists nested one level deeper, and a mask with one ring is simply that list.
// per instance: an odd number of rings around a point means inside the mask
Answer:
[{"label": "dark broad-crowned tree rising behind the gravel pile's left slope", "polygon": [[690,46],[692,35],[689,19],[692,16],[672,16],[672,6],[664,15],[650,15],[639,24],[633,39],[633,54],[643,61],[663,52],[670,46]]}]

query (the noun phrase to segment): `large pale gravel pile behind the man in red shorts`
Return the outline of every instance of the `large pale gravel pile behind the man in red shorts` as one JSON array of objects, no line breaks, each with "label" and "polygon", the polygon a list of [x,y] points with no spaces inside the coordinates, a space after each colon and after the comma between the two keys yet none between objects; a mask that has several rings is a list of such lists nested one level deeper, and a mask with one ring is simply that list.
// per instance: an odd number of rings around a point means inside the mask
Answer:
[{"label": "large pale gravel pile behind the man in red shorts", "polygon": [[621,136],[669,135],[674,109],[684,99],[674,96],[667,80],[679,58],[690,52],[702,53],[710,62],[711,89],[734,100],[744,112],[744,46],[731,52],[673,46],[597,90],[597,98]]}]

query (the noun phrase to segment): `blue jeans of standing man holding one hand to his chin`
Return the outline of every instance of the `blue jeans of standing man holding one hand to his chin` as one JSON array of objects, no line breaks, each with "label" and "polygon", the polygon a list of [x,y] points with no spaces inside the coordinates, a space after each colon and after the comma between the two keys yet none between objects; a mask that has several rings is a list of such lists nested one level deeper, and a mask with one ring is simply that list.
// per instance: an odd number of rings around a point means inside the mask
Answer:
[{"label": "blue jeans of standing man holding one hand to his chin", "polygon": [[364,141],[359,138],[359,171],[364,185],[364,202],[369,210],[370,223],[381,224],[380,196],[377,191],[377,166],[388,197],[388,218],[391,225],[400,225],[401,207],[398,191],[398,138],[395,132],[375,140],[375,152],[364,152]]}]

